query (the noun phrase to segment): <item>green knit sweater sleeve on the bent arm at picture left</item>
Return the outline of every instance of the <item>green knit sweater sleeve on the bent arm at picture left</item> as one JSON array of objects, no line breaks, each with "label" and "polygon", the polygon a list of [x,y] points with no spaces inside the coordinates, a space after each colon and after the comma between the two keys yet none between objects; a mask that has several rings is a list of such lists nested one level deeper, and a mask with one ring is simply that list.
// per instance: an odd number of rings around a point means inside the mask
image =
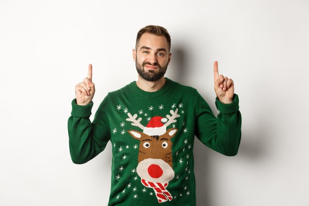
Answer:
[{"label": "green knit sweater sleeve on the bent arm at picture left", "polygon": [[100,104],[94,120],[89,117],[93,102],[80,106],[72,101],[71,117],[68,120],[71,159],[75,164],[84,164],[101,153],[111,138],[107,118],[108,96]]}]

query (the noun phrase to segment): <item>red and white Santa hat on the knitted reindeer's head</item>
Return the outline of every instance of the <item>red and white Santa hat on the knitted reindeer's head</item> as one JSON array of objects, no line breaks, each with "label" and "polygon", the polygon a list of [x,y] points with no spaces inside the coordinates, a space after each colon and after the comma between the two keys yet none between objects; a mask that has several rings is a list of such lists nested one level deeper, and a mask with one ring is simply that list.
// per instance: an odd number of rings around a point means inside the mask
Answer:
[{"label": "red and white Santa hat on the knitted reindeer's head", "polygon": [[149,136],[162,135],[166,132],[166,126],[163,124],[166,122],[166,118],[160,116],[153,117],[144,128],[143,132]]}]

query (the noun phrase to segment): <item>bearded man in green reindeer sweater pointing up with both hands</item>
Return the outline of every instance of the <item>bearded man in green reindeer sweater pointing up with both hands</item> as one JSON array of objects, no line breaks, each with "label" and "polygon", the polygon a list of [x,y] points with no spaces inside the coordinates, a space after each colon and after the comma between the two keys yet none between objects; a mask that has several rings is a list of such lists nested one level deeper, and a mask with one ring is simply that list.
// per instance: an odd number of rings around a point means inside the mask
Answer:
[{"label": "bearded man in green reindeer sweater pointing up with both hands", "polygon": [[110,92],[92,123],[91,64],[88,77],[76,85],[68,122],[71,157],[86,163],[111,141],[109,206],[195,206],[195,135],[219,153],[237,154],[241,115],[232,79],[219,75],[214,63],[216,119],[196,89],[164,78],[170,46],[163,27],[142,28],[133,49],[138,81]]}]

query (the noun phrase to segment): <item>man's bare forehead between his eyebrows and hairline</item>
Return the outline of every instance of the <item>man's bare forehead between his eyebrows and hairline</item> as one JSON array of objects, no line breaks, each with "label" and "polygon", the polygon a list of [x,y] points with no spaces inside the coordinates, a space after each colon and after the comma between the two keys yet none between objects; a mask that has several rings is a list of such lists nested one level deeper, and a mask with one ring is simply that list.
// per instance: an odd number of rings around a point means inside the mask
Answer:
[{"label": "man's bare forehead between his eyebrows and hairline", "polygon": [[137,49],[142,46],[150,47],[151,49],[165,48],[168,50],[168,42],[165,36],[156,36],[153,34],[145,33],[137,42]]}]

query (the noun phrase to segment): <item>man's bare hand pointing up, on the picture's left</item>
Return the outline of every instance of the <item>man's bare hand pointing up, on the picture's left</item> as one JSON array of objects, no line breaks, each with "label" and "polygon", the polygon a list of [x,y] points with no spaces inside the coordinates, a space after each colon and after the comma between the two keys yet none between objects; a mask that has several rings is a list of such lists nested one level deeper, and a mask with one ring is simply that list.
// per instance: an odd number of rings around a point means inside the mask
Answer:
[{"label": "man's bare hand pointing up, on the picture's left", "polygon": [[88,77],[75,86],[76,103],[78,105],[87,105],[94,96],[95,88],[92,82],[92,65],[88,67]]}]

